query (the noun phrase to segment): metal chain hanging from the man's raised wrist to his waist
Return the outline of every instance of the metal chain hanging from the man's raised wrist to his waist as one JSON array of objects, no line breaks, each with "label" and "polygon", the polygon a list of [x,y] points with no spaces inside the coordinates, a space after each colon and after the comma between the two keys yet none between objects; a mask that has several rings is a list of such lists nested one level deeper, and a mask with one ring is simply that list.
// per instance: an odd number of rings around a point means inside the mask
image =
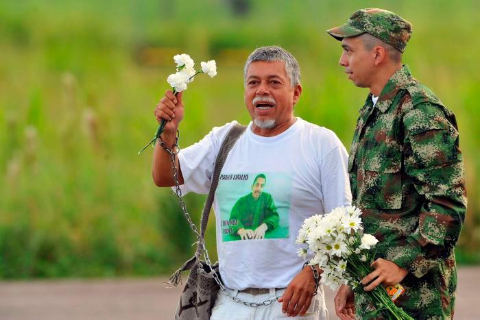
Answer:
[{"label": "metal chain hanging from the man's raised wrist to his waist", "polygon": [[[178,168],[176,166],[176,161],[175,160],[176,160],[176,156],[177,156],[178,152],[180,151],[180,147],[178,147],[178,138],[179,137],[180,137],[180,132],[177,130],[177,136],[176,136],[175,144],[173,145],[173,148],[175,148],[176,151],[172,151],[167,146],[167,144],[163,142],[162,138],[159,137],[158,139],[160,140],[160,146],[163,147],[163,149],[165,149],[165,151],[167,151],[167,153],[169,153],[169,155],[170,155],[171,170],[172,170],[172,173],[173,173],[173,181],[175,182],[175,194],[178,197],[178,201],[180,203],[180,208],[182,208],[185,219],[187,219],[187,222],[189,223],[189,225],[191,227],[191,230],[197,236],[197,245],[202,246],[202,251],[203,251],[203,254],[204,254],[205,262],[208,265],[208,267],[211,269],[211,271],[213,272],[213,278],[215,279],[215,282],[217,282],[217,284],[220,286],[221,291],[223,293],[225,293],[225,295],[230,297],[230,299],[237,302],[238,304],[243,304],[245,306],[250,306],[250,307],[258,307],[258,306],[268,306],[269,304],[274,303],[280,297],[274,297],[272,299],[267,299],[267,300],[257,304],[256,302],[243,301],[243,300],[241,300],[237,297],[232,296],[228,292],[226,286],[224,286],[223,282],[221,282],[221,280],[219,278],[219,275],[217,275],[217,272],[213,269],[212,262],[210,260],[210,256],[208,256],[208,251],[206,249],[205,240],[200,235],[200,232],[198,232],[197,226],[195,225],[195,223],[193,223],[193,221],[190,217],[190,214],[187,211],[187,205],[185,204],[185,201],[183,200],[182,190],[180,189],[180,182],[178,182]],[[197,256],[197,258],[200,258],[200,257]]]}]

